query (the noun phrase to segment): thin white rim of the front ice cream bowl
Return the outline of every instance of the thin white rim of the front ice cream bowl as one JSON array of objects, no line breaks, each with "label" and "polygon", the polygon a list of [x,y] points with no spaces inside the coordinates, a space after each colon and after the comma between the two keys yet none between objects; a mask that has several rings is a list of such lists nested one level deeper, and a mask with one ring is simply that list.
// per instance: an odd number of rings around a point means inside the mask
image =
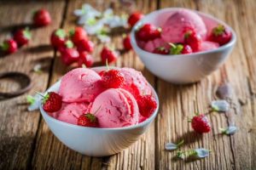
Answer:
[{"label": "thin white rim of the front ice cream bowl", "polygon": [[[111,68],[119,68],[119,67],[116,67],[116,66],[111,66]],[[107,69],[106,66],[96,66],[96,67],[91,67],[90,69],[96,71],[96,70],[102,70],[102,69]],[[57,86],[59,83],[61,83],[61,79],[57,82],[55,82],[53,85],[51,85],[45,92],[44,94],[46,94],[47,92],[49,92],[49,90],[51,88],[54,88],[55,86]],[[107,128],[107,127],[82,127],[82,126],[79,126],[79,125],[74,125],[74,124],[71,124],[71,123],[68,123],[68,122],[62,122],[58,119],[55,119],[54,117],[52,116],[49,116],[46,111],[44,111],[43,107],[42,107],[42,103],[41,103],[41,100],[40,100],[40,105],[39,105],[39,110],[42,114],[43,117],[47,117],[48,119],[50,119],[52,122],[55,122],[55,123],[60,123],[64,126],[67,126],[67,127],[74,127],[74,128],[78,128],[78,129],[91,129],[91,130],[96,130],[96,131],[119,131],[119,130],[131,130],[131,129],[135,129],[137,127],[145,127],[147,124],[149,124],[150,122],[153,122],[154,121],[154,118],[157,116],[158,114],[158,111],[159,111],[159,107],[160,107],[160,101],[159,101],[159,97],[157,95],[157,93],[155,92],[154,88],[151,86],[150,83],[148,83],[150,88],[152,89],[152,93],[154,95],[154,98],[156,99],[156,103],[157,103],[157,107],[154,111],[154,113],[148,117],[147,120],[143,121],[143,122],[140,122],[136,125],[131,125],[131,126],[128,126],[128,127],[111,127],[111,128]],[[44,120],[45,121],[45,120]],[[46,122],[46,121],[45,121]],[[46,122],[47,123],[47,122]],[[48,123],[47,123],[48,125]]]}]

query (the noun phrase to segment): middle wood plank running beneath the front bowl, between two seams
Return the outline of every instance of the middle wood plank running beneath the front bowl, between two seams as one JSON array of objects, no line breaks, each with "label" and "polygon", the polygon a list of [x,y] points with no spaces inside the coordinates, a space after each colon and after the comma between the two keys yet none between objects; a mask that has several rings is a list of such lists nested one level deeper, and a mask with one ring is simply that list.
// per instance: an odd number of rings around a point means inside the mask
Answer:
[{"label": "middle wood plank running beneath the front bowl, between two seams", "polygon": [[[65,30],[75,26],[73,23],[75,20],[75,17],[73,17],[73,10],[75,8],[80,8],[83,3],[83,1],[70,1],[68,3],[67,17],[63,26]],[[99,10],[106,9],[111,4],[110,1],[104,1],[104,3],[90,1],[87,3],[90,3]],[[115,11],[121,12],[122,10],[120,10],[120,8],[121,5],[119,3],[114,3]],[[156,3],[150,1],[137,1],[137,9],[142,10],[144,13],[152,11],[155,8]],[[96,49],[93,56],[96,60],[99,60],[102,43],[96,42],[95,38],[93,38],[93,40],[96,43]],[[113,37],[113,42],[111,42],[111,44],[116,48],[122,48],[121,41],[122,35],[120,34]],[[154,77],[143,68],[142,62],[133,52],[123,54],[115,65],[134,67],[137,70],[143,71],[145,77],[154,85]],[[51,84],[70,69],[71,67],[64,67],[58,57],[55,58],[54,69],[50,80]],[[133,144],[131,148],[124,150],[117,155],[104,158],[82,156],[73,150],[69,150],[66,146],[61,144],[52,133],[50,133],[49,128],[44,121],[40,122],[39,129],[36,151],[32,161],[33,168],[148,169],[154,167],[154,123],[148,130],[148,133],[143,135],[143,138],[137,141],[136,144]],[[53,152],[53,148],[58,151]]]}]

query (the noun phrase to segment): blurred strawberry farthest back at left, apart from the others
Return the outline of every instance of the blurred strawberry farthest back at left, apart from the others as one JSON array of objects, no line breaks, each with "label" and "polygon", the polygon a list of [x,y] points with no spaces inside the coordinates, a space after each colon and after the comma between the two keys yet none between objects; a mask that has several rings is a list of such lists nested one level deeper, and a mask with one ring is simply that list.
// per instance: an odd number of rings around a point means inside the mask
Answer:
[{"label": "blurred strawberry farthest back at left, apart from the others", "polygon": [[49,12],[41,8],[33,15],[33,22],[35,26],[47,26],[51,22]]}]

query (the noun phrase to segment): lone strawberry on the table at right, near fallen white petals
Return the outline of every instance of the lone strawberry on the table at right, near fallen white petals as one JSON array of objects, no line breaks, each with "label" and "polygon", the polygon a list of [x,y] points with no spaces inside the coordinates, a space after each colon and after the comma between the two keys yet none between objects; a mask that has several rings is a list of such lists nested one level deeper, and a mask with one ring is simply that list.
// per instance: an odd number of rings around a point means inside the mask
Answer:
[{"label": "lone strawberry on the table at right, near fallen white petals", "polygon": [[211,125],[205,115],[197,115],[192,118],[192,127],[197,133],[208,133],[211,131]]}]

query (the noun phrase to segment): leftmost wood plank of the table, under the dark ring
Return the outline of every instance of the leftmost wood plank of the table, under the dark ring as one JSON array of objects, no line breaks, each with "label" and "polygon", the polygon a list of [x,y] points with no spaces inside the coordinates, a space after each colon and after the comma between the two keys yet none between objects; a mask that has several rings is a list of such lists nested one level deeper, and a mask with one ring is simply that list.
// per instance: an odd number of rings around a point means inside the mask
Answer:
[{"label": "leftmost wood plank of the table, under the dark ring", "polygon": [[[49,9],[54,20],[50,26],[33,29],[32,41],[28,46],[21,48],[15,54],[0,58],[0,72],[21,71],[32,78],[33,87],[29,94],[44,91],[47,87],[49,68],[54,54],[48,46],[49,34],[60,24],[63,4],[60,1],[0,3],[1,42],[10,36],[14,26],[31,23],[33,9],[42,7]],[[33,66],[38,63],[45,66],[42,74],[32,72]],[[16,88],[19,88],[19,85],[14,82],[1,80],[1,91],[13,91]],[[25,101],[26,95],[0,101],[0,169],[26,169],[32,159],[40,114],[38,111],[26,111],[27,105],[23,105]]]}]

